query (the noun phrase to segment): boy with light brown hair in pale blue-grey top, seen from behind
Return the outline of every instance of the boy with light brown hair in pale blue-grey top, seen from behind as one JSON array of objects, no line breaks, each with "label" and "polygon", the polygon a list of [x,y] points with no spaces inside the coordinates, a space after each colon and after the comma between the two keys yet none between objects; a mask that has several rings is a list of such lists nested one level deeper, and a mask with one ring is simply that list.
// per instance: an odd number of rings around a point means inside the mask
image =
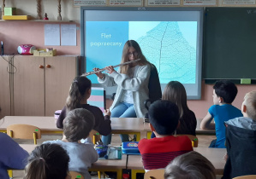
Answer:
[{"label": "boy with light brown hair in pale blue-grey top, seen from behind", "polygon": [[[44,142],[61,145],[70,158],[69,170],[77,171],[85,178],[91,178],[88,168],[98,160],[98,153],[88,137],[93,125],[94,116],[91,112],[83,108],[74,109],[63,121],[63,139]],[[87,141],[80,143],[85,138]]]}]

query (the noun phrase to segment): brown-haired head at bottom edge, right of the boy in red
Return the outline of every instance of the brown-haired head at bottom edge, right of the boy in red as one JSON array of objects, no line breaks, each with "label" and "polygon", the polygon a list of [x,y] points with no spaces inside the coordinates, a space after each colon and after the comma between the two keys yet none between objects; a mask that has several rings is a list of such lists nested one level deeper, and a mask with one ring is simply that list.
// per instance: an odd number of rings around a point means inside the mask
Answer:
[{"label": "brown-haired head at bottom edge, right of the boy in red", "polygon": [[173,159],[164,171],[164,179],[215,179],[211,162],[197,152],[182,154]]}]

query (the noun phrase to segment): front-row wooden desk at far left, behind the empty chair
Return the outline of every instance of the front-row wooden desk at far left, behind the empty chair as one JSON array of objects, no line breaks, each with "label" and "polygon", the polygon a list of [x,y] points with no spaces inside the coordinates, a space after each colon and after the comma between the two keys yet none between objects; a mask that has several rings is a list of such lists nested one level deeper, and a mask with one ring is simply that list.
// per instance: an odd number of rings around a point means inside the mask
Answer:
[{"label": "front-row wooden desk at far left, behind the empty chair", "polygon": [[63,134],[56,126],[54,117],[45,116],[5,116],[0,120],[0,132],[6,132],[11,124],[30,124],[39,127],[42,134]]}]

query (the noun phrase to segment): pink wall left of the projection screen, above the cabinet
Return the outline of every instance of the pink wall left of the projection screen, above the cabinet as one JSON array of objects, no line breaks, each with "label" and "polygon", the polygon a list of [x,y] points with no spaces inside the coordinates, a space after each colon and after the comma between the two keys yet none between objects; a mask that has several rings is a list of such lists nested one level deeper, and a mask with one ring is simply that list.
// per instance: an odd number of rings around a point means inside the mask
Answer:
[{"label": "pink wall left of the projection screen, above the cabinet", "polygon": [[[20,44],[33,44],[37,49],[47,47],[57,49],[57,55],[80,55],[80,8],[73,6],[72,0],[62,0],[63,23],[76,24],[77,45],[76,46],[45,46],[45,24],[61,24],[57,20],[57,0],[41,0],[41,15],[44,18],[47,13],[49,20],[5,20],[0,21],[0,41],[3,41],[4,55],[17,54]],[[2,1],[0,3],[2,6]],[[33,20],[37,19],[37,1],[34,0],[12,0],[5,1],[5,7],[14,7],[19,15],[31,15]],[[0,13],[2,14],[2,12]],[[73,20],[73,22],[67,22]]]}]

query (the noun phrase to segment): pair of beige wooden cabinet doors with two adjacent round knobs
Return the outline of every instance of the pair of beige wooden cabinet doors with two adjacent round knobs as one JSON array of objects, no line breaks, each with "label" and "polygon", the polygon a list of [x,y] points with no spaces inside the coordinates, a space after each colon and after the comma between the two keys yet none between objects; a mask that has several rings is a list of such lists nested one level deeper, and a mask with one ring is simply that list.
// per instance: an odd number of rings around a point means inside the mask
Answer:
[{"label": "pair of beige wooden cabinet doors with two adjacent round knobs", "polygon": [[16,55],[14,65],[15,116],[53,116],[63,108],[78,75],[77,56]]}]

